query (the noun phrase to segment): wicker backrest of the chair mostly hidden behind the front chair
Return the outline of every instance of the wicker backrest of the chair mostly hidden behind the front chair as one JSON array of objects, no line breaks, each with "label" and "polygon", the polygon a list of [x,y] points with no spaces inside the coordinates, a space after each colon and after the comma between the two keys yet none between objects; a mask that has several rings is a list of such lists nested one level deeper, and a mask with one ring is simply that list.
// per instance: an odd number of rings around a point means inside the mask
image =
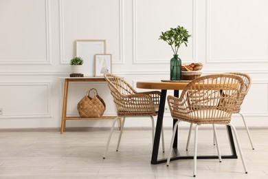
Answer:
[{"label": "wicker backrest of the chair mostly hidden behind the front chair", "polygon": [[244,87],[243,90],[241,92],[241,95],[239,95],[236,106],[234,107],[234,113],[238,113],[241,110],[241,105],[244,101],[245,96],[247,95],[247,92],[249,92],[249,88],[252,85],[252,78],[245,73],[241,73],[241,72],[230,72],[229,74],[236,74],[238,76],[240,76],[241,78],[243,78],[244,81]]}]

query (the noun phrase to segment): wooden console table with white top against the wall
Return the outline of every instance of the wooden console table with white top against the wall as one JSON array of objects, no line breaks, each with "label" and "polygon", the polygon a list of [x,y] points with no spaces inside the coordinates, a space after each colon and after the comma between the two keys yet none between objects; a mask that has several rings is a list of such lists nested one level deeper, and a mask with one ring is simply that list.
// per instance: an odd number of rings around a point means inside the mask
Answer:
[{"label": "wooden console table with white top against the wall", "polygon": [[[115,116],[101,116],[100,118],[81,118],[80,116],[67,117],[67,100],[69,82],[90,82],[90,81],[105,81],[103,77],[61,77],[65,79],[64,94],[63,94],[63,116],[61,120],[60,134],[63,134],[66,127],[66,120],[96,120],[96,119],[114,119]],[[120,121],[121,126],[121,121]]]}]

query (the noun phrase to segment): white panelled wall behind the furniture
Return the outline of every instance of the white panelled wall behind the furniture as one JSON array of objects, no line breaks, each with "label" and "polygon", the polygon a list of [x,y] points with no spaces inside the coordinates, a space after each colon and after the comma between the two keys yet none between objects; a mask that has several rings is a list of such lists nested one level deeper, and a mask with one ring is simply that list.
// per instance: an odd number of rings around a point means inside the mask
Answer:
[{"label": "white panelled wall behind the furniture", "polygon": [[[268,126],[268,1],[266,0],[0,0],[0,128],[60,127],[63,81],[76,39],[106,39],[113,73],[133,86],[168,79],[170,47],[161,31],[182,25],[192,38],[183,63],[203,74],[252,76],[242,112],[249,126]],[[106,83],[72,83],[67,114],[96,87],[115,114]],[[166,113],[164,125],[171,126]],[[126,126],[149,126],[129,120]],[[236,125],[243,125],[241,120]],[[67,127],[111,126],[111,120],[67,121]]]}]

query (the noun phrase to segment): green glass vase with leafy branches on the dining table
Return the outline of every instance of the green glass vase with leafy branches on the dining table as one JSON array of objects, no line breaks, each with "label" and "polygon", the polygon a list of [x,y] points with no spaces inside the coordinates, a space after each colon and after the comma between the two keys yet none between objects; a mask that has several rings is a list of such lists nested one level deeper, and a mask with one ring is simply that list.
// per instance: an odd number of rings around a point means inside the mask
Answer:
[{"label": "green glass vase with leafy branches on the dining table", "polygon": [[181,80],[181,59],[178,57],[178,50],[182,44],[187,47],[190,36],[188,30],[179,25],[177,28],[170,28],[166,32],[161,32],[159,36],[159,40],[166,41],[173,51],[173,58],[170,59],[170,80],[172,81]]}]

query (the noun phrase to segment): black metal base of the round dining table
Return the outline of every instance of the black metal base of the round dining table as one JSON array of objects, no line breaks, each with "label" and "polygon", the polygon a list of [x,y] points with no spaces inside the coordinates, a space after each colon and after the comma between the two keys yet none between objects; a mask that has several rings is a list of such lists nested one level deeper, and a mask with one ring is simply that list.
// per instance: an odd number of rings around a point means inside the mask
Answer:
[{"label": "black metal base of the round dining table", "polygon": [[[159,104],[159,111],[157,116],[157,125],[155,129],[155,141],[153,143],[153,154],[152,158],[150,160],[151,164],[159,164],[166,162],[167,158],[161,158],[158,159],[158,151],[159,151],[159,142],[160,142],[160,136],[161,136],[161,128],[163,123],[163,117],[164,117],[164,108],[166,103],[166,89],[161,90],[161,96],[160,96],[160,104]],[[174,96],[179,96],[179,90],[174,90]],[[173,120],[173,125],[175,124],[176,120]],[[234,138],[232,136],[232,129],[230,126],[226,127],[227,134],[229,137],[230,142],[230,148],[231,148],[231,155],[223,155],[221,158],[238,158],[236,155],[236,147],[234,145]],[[178,130],[178,129],[177,129]],[[181,160],[181,159],[193,159],[193,156],[180,156],[179,150],[177,149],[177,134],[175,135],[174,144],[173,144],[173,150],[176,154],[176,156],[173,156],[170,158],[170,160]],[[197,156],[197,159],[214,159],[219,158],[219,156]]]}]

